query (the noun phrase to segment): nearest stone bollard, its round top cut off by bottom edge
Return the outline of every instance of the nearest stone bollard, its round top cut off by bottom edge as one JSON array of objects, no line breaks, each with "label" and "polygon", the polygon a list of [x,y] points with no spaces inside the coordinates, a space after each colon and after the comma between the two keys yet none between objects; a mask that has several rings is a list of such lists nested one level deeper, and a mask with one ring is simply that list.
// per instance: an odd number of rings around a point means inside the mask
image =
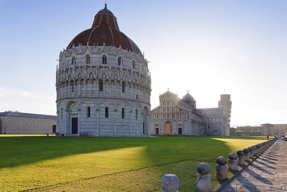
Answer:
[{"label": "nearest stone bollard, its round top cut off by bottom edge", "polygon": [[179,188],[179,178],[174,174],[165,174],[160,180],[162,192],[177,192]]}]

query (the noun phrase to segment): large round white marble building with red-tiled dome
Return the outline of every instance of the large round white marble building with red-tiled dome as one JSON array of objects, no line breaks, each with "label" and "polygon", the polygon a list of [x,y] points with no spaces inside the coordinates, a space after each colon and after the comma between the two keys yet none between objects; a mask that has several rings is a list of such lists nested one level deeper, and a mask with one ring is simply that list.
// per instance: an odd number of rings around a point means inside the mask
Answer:
[{"label": "large round white marble building with red-tiled dome", "polygon": [[148,61],[106,5],[60,52],[56,90],[56,135],[150,136]]}]

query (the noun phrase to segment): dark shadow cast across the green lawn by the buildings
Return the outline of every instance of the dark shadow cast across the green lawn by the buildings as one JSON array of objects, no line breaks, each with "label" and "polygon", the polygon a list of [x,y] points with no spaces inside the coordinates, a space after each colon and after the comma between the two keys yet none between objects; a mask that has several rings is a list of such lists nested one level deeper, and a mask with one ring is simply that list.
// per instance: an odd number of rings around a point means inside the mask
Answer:
[{"label": "dark shadow cast across the green lawn by the buildings", "polygon": [[[147,174],[150,174],[150,177],[155,179],[156,186],[160,187],[161,176],[173,173],[178,175],[181,183],[180,190],[184,191],[190,190],[195,185],[196,166],[199,163],[209,164],[211,166],[210,174],[213,175],[216,172],[216,158],[219,156],[227,157],[231,150],[225,141],[191,137],[1,137],[0,146],[0,168],[37,164],[40,161],[70,155],[144,147],[144,155],[138,159],[139,162],[142,162],[142,166],[131,170],[136,171],[136,169],[156,166],[154,173],[147,171]],[[113,159],[107,160],[113,161]],[[127,171],[124,171],[124,173],[129,175]],[[89,178],[89,176],[86,176],[86,178]],[[93,175],[90,178],[93,178]],[[74,179],[80,180],[81,178]],[[124,180],[124,178],[121,180]],[[212,178],[212,189],[218,183],[221,184],[223,182],[217,180],[216,176],[214,176]],[[47,184],[42,184],[42,186],[47,186]],[[77,186],[79,187],[79,185]],[[125,189],[127,190],[128,188]],[[130,190],[136,189],[131,188]]]}]

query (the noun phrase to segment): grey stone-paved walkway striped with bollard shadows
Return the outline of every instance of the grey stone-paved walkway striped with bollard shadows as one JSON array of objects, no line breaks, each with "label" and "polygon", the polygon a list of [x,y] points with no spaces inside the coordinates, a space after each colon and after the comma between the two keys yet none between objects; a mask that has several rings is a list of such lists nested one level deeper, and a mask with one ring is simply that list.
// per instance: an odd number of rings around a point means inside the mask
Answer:
[{"label": "grey stone-paved walkway striped with bollard shadows", "polygon": [[287,141],[273,143],[221,191],[287,191]]}]

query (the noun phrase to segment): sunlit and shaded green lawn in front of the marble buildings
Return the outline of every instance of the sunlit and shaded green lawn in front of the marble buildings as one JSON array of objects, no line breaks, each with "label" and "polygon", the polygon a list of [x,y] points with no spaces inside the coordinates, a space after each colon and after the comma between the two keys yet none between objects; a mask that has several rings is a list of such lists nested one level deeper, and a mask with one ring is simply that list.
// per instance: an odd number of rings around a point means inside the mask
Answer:
[{"label": "sunlit and shaded green lawn in front of the marble buildings", "polygon": [[[0,135],[0,190],[160,191],[161,177],[173,173],[179,177],[179,190],[188,191],[196,183],[199,163],[208,163],[213,175],[217,157],[260,142]],[[212,189],[220,182],[212,177]]]}]

